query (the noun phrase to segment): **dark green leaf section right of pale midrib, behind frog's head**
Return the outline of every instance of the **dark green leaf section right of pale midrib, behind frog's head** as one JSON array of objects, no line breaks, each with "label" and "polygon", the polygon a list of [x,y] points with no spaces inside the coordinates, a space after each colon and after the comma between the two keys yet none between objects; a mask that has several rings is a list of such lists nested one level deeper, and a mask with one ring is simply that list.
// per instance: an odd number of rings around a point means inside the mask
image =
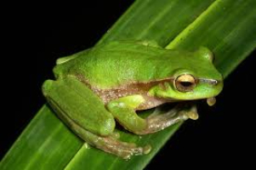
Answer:
[{"label": "dark green leaf section right of pale midrib, behind frog's head", "polygon": [[216,1],[167,48],[206,46],[224,77],[256,47],[256,8],[253,1]]}]

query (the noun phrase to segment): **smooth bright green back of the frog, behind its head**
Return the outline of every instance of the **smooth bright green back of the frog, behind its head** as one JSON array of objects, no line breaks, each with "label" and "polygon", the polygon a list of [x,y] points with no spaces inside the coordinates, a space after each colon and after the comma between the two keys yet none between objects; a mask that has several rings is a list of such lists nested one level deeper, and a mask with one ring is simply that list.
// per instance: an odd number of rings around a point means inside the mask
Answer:
[{"label": "smooth bright green back of the frog, behind its head", "polygon": [[[76,59],[57,65],[56,69],[60,70],[57,71],[59,76],[75,75],[98,88],[113,88],[128,82],[148,82],[168,77],[171,65],[179,62],[175,59],[179,54],[169,52],[142,44],[111,42],[91,48],[86,54],[78,54]],[[172,64],[169,59],[172,59]]]}]

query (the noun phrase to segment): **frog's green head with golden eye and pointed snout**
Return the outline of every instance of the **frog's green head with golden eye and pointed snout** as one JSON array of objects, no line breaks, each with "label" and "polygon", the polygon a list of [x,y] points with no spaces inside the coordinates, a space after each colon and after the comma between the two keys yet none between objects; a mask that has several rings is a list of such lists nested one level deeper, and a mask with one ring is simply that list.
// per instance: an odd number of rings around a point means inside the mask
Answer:
[{"label": "frog's green head with golden eye and pointed snout", "polygon": [[175,66],[171,76],[151,88],[150,94],[171,100],[207,99],[208,105],[214,105],[214,97],[223,88],[223,77],[213,65],[211,51],[202,47],[180,55]]}]

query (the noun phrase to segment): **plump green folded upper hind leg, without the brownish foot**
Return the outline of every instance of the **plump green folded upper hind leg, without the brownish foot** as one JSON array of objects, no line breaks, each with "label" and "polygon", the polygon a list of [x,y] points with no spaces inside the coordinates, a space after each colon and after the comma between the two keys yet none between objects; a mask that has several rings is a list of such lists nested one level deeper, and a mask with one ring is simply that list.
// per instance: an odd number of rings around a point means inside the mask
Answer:
[{"label": "plump green folded upper hind leg, without the brownish foot", "polygon": [[103,102],[75,77],[43,84],[43,94],[60,118],[76,131],[75,124],[89,132],[106,136],[115,128],[115,120]]}]

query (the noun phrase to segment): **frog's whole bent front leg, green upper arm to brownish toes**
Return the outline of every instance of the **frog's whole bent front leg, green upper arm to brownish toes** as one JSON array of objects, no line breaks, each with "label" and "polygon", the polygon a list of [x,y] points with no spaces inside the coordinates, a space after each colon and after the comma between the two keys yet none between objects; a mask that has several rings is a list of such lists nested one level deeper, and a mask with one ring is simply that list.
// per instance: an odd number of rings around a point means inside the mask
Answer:
[{"label": "frog's whole bent front leg, green upper arm to brownish toes", "polygon": [[107,108],[123,127],[137,134],[155,133],[176,122],[197,119],[196,105],[183,104],[176,105],[164,114],[155,113],[143,119],[136,114],[136,108],[144,102],[143,96],[135,94],[112,100]]}]

